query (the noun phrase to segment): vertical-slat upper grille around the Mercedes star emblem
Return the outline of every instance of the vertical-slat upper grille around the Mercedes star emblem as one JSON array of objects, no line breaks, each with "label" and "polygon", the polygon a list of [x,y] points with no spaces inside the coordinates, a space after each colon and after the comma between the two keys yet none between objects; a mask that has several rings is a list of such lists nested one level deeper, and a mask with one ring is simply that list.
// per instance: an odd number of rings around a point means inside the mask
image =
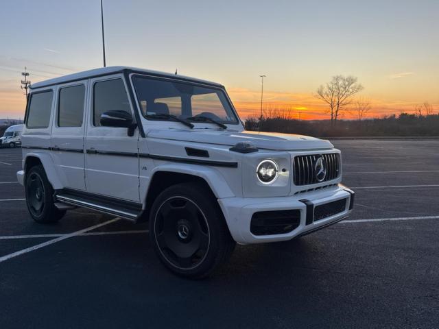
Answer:
[{"label": "vertical-slat upper grille around the Mercedes star emblem", "polygon": [[[327,167],[327,175],[319,182],[316,178],[316,160],[322,157]],[[309,156],[295,156],[294,185],[309,185],[335,180],[340,175],[340,154],[313,154]]]}]

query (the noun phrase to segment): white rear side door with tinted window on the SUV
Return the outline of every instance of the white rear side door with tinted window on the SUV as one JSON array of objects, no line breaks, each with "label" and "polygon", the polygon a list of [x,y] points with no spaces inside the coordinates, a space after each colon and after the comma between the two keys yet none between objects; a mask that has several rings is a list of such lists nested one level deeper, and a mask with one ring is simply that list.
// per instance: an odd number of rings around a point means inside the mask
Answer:
[{"label": "white rear side door with tinted window on the SUV", "polygon": [[58,178],[67,188],[85,191],[84,117],[88,82],[63,84],[56,90],[51,150]]}]

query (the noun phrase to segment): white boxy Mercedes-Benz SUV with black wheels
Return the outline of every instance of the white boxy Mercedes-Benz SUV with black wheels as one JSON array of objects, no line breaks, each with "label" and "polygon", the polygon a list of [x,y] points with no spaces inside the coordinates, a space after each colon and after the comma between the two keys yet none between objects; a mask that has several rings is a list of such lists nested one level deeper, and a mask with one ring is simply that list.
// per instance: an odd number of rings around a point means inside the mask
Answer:
[{"label": "white boxy Mercedes-Benz SUV with black wheels", "polygon": [[38,223],[85,207],[149,221],[156,254],[191,278],[236,243],[285,241],[348,216],[329,141],[244,130],[224,86],[107,67],[33,84],[22,136]]}]

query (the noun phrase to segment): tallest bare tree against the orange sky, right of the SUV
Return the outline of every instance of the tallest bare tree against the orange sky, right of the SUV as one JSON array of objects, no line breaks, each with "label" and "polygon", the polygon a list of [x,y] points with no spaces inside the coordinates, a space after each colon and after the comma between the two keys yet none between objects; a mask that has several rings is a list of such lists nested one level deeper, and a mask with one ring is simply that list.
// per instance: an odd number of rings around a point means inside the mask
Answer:
[{"label": "tallest bare tree against the orange sky, right of the SUV", "polygon": [[357,84],[357,77],[349,75],[335,75],[331,82],[317,89],[316,97],[329,106],[331,124],[336,123],[342,111],[353,102],[353,95],[363,90],[361,84]]}]

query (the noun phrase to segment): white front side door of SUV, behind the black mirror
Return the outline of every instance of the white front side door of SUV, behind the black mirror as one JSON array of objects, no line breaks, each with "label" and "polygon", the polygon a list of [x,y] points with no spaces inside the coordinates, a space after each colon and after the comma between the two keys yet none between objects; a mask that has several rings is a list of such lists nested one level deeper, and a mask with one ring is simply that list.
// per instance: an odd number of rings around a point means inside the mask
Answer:
[{"label": "white front side door of SUV, behind the black mirror", "polygon": [[123,110],[132,115],[122,75],[91,80],[86,146],[86,190],[90,193],[139,202],[139,130],[128,136],[127,128],[102,127],[101,114]]}]

